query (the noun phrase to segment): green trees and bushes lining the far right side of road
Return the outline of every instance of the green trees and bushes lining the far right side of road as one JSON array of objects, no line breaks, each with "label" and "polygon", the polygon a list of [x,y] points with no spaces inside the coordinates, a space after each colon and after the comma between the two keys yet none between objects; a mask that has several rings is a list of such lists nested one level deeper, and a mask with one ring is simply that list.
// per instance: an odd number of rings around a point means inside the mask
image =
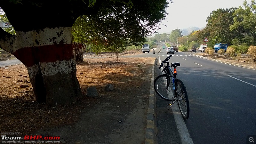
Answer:
[{"label": "green trees and bushes lining the far right side of road", "polygon": [[[206,44],[209,48],[214,48],[215,44],[227,43],[228,55],[239,57],[240,54],[249,52],[249,47],[256,46],[256,4],[244,1],[239,8],[217,9],[212,11],[207,17],[206,27],[201,30],[192,31],[187,36],[182,36],[179,28],[172,30],[170,34],[163,33],[155,35],[157,42],[179,44],[179,51],[187,51],[195,47],[200,48],[200,44]],[[207,50],[207,55],[212,53]],[[224,54],[221,50],[218,52]],[[254,53],[254,51],[250,51]],[[214,54],[214,53],[212,53]],[[253,54],[250,54],[253,56]]]}]

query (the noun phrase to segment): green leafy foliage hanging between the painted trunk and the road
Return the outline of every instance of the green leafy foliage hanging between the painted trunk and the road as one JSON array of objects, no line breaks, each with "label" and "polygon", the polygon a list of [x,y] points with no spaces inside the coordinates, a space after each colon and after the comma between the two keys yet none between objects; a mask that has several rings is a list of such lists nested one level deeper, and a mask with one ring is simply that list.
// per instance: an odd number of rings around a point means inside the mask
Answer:
[{"label": "green leafy foliage hanging between the painted trunk and the road", "polygon": [[[91,4],[96,2],[91,1]],[[128,45],[141,45],[146,36],[155,32],[159,22],[165,19],[168,6],[165,0],[147,1],[143,7],[140,5],[142,1],[116,2],[120,3],[107,3],[106,8],[100,9],[97,15],[80,16],[72,29],[74,41],[97,45],[94,48],[101,45],[106,51],[121,51]]]}]

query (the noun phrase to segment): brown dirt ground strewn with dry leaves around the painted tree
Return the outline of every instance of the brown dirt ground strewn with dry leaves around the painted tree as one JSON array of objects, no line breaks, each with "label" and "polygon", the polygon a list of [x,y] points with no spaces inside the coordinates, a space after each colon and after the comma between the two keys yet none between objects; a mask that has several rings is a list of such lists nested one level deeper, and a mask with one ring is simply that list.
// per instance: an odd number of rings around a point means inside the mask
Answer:
[{"label": "brown dirt ground strewn with dry leaves around the painted tree", "polygon": [[[111,54],[84,57],[76,66],[83,97],[53,108],[36,102],[31,84],[24,82],[29,78],[23,64],[0,68],[0,132],[60,136],[68,144],[144,143],[154,60],[120,58],[115,63]],[[23,84],[28,87],[21,88]],[[105,91],[106,84],[114,90]],[[91,86],[99,97],[86,96]]]}]

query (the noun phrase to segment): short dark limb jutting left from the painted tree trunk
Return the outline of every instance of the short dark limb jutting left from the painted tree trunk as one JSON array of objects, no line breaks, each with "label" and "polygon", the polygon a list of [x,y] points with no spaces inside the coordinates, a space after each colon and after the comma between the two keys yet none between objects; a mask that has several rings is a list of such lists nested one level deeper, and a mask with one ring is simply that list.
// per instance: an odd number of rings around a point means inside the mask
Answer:
[{"label": "short dark limb jutting left from the painted tree trunk", "polygon": [[6,52],[12,53],[13,51],[13,42],[15,40],[15,36],[7,33],[2,28],[0,28],[0,48]]}]

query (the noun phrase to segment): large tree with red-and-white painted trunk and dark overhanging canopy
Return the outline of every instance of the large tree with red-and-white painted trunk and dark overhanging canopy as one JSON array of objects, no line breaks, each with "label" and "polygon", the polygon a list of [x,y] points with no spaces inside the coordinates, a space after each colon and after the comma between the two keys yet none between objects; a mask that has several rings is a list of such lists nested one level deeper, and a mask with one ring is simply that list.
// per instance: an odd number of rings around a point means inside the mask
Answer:
[{"label": "large tree with red-and-white painted trunk and dark overhanging canopy", "polygon": [[[81,15],[107,16],[122,9],[120,18],[154,32],[165,19],[169,0],[1,0],[0,7],[16,35],[0,28],[0,47],[28,69],[37,102],[70,104],[81,97],[72,49],[72,26]],[[143,6],[141,6],[143,4]],[[147,7],[145,9],[144,7]],[[150,7],[150,9],[148,9]],[[134,31],[135,33],[136,31]],[[113,33],[109,31],[109,33]],[[117,34],[117,33],[116,33]]]}]

